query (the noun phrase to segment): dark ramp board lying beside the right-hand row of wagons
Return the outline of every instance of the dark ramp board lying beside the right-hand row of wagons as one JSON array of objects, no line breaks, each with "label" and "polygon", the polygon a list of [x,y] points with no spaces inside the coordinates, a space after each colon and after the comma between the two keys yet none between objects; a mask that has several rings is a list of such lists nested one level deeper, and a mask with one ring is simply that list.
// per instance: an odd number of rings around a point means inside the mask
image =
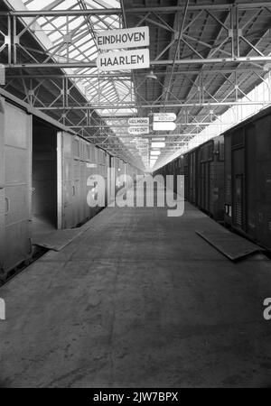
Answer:
[{"label": "dark ramp board lying beside the right-hand row of wagons", "polygon": [[263,251],[260,246],[251,243],[240,235],[230,232],[223,226],[213,230],[196,230],[196,234],[200,235],[201,238],[220,251],[221,254],[227,256],[230,261],[238,261],[250,254]]}]

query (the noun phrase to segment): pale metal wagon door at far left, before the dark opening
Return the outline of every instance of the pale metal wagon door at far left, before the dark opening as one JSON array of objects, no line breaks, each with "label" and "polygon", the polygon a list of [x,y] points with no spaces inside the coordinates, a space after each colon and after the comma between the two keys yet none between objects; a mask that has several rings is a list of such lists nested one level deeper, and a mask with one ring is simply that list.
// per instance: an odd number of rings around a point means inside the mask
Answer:
[{"label": "pale metal wagon door at far left, before the dark opening", "polygon": [[[31,240],[32,116],[5,106],[5,249],[4,272],[27,260]],[[3,118],[3,117],[2,117]],[[3,190],[3,189],[2,189]]]}]

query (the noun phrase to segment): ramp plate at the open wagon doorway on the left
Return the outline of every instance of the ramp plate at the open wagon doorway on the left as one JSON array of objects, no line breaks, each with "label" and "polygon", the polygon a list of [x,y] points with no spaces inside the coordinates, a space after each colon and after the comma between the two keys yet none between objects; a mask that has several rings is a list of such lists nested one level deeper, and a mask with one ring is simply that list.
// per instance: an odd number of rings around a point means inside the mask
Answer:
[{"label": "ramp plate at the open wagon doorway on the left", "polygon": [[61,251],[75,238],[83,233],[80,229],[54,230],[33,235],[33,245],[42,246],[53,251]]}]

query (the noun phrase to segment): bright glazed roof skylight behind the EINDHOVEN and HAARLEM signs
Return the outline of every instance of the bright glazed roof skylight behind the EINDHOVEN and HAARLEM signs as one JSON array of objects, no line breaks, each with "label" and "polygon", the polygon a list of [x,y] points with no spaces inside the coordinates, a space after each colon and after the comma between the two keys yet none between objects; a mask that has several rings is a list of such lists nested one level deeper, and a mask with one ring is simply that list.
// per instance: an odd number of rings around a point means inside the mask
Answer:
[{"label": "bright glazed roof skylight behind the EINDHOVEN and HAARLEM signs", "polygon": [[[119,0],[22,0],[29,10],[87,10],[120,8]],[[37,30],[42,30],[51,42],[48,53],[56,61],[94,62],[98,56],[95,36],[101,30],[122,28],[121,14],[90,16],[42,16],[37,19]],[[114,110],[114,103],[135,101],[131,71],[119,71],[115,78],[96,68],[64,69],[66,73],[84,75],[76,78],[77,86],[88,99],[89,105],[107,105],[98,109],[101,116],[134,115],[135,109]],[[110,73],[110,72],[109,72]],[[112,72],[114,73],[114,72]],[[121,78],[117,78],[122,75]]]}]

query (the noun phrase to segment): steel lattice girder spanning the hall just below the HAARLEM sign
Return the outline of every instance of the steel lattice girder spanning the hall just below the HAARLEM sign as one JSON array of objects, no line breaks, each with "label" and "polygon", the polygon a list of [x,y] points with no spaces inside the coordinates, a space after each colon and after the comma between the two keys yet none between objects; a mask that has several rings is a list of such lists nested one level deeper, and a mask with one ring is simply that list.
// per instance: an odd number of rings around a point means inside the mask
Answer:
[{"label": "steel lattice girder spanning the hall just below the HAARLEM sign", "polygon": [[[232,71],[233,72],[233,71]],[[266,83],[266,87],[268,87],[266,78],[270,78],[270,73],[266,74],[264,70],[249,70],[250,76],[255,76],[255,79],[261,80]],[[182,74],[180,75],[180,77]],[[187,77],[186,73],[183,75]],[[182,100],[176,97],[172,91],[168,90],[168,95],[170,98],[167,98],[166,105],[164,102],[159,98],[156,100],[146,101],[142,99],[140,95],[137,95],[138,102],[140,102],[140,106],[142,108],[148,108],[151,110],[159,109],[161,107],[201,107],[201,106],[248,106],[248,105],[266,105],[269,104],[266,100],[241,100],[239,97],[245,97],[244,91],[244,82],[246,77],[239,79],[237,75],[235,75],[234,79],[227,77],[223,71],[215,71],[212,74],[211,71],[207,72],[206,74],[201,73],[199,77],[194,80],[189,78],[189,82],[193,88],[192,97],[188,100]],[[217,80],[219,84],[222,84],[224,88],[227,85],[227,93],[220,95],[220,96],[213,96],[208,91],[208,84],[210,81]],[[136,108],[136,104],[134,102],[126,102],[125,100],[119,100],[112,103],[109,99],[105,98],[105,102],[101,103],[98,101],[98,96],[89,100],[89,103],[83,104],[82,102],[77,102],[72,97],[70,97],[70,92],[73,88],[76,88],[76,81],[71,82],[69,77],[61,77],[57,76],[54,78],[53,76],[44,75],[39,77],[34,77],[30,75],[14,75],[14,76],[7,76],[6,77],[6,84],[5,88],[10,87],[13,83],[21,82],[23,84],[23,88],[25,90],[25,100],[27,100],[31,106],[35,108],[40,108],[41,110],[56,110],[56,111],[63,111],[68,112],[70,110],[91,110],[91,109],[120,109],[120,108]],[[100,84],[98,82],[97,93],[100,91],[100,88],[107,83],[107,79],[101,80]],[[46,103],[44,100],[38,96],[40,92],[40,88],[54,88],[54,96],[51,95],[51,99]],[[137,93],[138,88],[135,88],[135,93]],[[271,89],[268,87],[270,92],[271,98]],[[128,95],[128,92],[127,92]]]}]

